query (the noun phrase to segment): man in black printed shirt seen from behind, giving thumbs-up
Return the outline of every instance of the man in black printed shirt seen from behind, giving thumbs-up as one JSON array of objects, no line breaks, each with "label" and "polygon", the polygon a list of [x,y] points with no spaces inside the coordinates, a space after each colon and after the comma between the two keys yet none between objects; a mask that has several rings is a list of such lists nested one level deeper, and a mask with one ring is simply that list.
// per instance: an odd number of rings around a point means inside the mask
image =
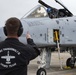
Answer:
[{"label": "man in black printed shirt seen from behind, giving thumbs-up", "polygon": [[5,23],[7,38],[0,43],[0,75],[27,75],[30,60],[40,54],[29,33],[25,38],[27,45],[19,41],[20,27],[21,22],[16,17]]}]

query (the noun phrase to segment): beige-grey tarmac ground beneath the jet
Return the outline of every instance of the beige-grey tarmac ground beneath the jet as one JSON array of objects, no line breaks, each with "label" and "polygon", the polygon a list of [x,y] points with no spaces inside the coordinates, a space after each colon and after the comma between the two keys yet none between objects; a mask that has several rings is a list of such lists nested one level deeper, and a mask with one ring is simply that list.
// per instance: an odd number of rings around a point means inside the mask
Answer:
[{"label": "beige-grey tarmac ground beneath the jet", "polygon": [[[58,53],[53,52],[51,56],[50,68],[46,69],[47,75],[76,75],[76,67],[65,68],[66,60],[71,57],[68,52],[60,53],[63,69],[60,68]],[[32,60],[28,65],[28,75],[36,75],[39,64],[37,64],[38,58]],[[76,64],[75,64],[76,66]]]}]

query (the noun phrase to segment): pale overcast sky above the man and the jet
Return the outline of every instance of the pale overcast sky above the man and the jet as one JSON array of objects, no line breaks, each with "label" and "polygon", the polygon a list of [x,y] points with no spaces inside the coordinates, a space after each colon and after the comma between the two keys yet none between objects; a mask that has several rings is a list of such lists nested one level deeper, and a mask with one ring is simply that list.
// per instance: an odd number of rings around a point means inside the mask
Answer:
[{"label": "pale overcast sky above the man and the jet", "polygon": [[[53,7],[60,6],[54,0],[43,0]],[[76,0],[59,0],[76,15]],[[29,10],[39,5],[38,0],[0,0],[0,27],[4,26],[5,21],[10,17],[22,18]]]}]

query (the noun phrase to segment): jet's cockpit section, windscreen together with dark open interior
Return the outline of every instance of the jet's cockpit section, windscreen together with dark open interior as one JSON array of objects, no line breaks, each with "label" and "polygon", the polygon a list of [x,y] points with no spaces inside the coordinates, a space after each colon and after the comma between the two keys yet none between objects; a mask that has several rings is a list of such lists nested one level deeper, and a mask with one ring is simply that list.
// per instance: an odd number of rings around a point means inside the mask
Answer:
[{"label": "jet's cockpit section, windscreen together with dark open interior", "polygon": [[[42,2],[42,1],[41,1]],[[47,5],[46,3],[42,2],[42,5],[38,5],[34,7],[31,11],[29,11],[24,17],[25,18],[45,18],[49,17],[53,18],[61,18],[61,17],[70,17],[72,14],[66,10],[66,8],[57,9]],[[44,5],[44,6],[43,6]],[[51,8],[50,13],[47,12],[48,7]]]}]

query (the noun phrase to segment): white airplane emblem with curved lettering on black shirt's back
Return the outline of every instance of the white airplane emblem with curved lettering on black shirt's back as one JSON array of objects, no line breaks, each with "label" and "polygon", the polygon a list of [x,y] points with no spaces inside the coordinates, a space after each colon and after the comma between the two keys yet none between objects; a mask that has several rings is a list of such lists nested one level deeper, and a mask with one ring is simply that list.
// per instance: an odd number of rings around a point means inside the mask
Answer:
[{"label": "white airplane emblem with curved lettering on black shirt's back", "polygon": [[[12,53],[12,55],[10,54],[10,52]],[[20,52],[14,48],[3,48],[0,50],[0,60],[2,60],[0,61],[0,65],[2,67],[10,68],[10,67],[14,67],[17,65],[17,63],[14,62],[16,56],[13,55],[13,53],[20,55]]]}]

